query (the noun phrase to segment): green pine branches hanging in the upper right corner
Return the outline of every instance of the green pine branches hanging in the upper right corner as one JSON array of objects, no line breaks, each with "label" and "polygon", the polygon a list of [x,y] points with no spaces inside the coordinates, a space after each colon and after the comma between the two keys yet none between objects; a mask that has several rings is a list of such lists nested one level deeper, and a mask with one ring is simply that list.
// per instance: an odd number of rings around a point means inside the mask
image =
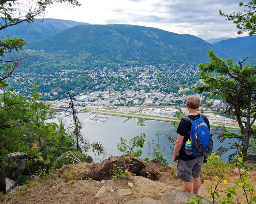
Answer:
[{"label": "green pine branches hanging in the upper right corner", "polygon": [[239,3],[240,7],[243,7],[242,11],[233,12],[232,14],[224,14],[219,10],[219,14],[227,17],[227,20],[232,20],[237,24],[239,31],[238,34],[249,31],[249,35],[255,35],[256,33],[256,0],[249,1],[248,4],[243,2]]}]

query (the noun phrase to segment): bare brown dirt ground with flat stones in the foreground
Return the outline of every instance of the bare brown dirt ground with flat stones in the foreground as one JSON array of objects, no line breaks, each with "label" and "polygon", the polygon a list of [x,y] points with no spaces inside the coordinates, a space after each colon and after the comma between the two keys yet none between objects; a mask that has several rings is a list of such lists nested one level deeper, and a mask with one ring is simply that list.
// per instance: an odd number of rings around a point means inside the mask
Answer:
[{"label": "bare brown dirt ground with flat stones in the foreground", "polygon": [[[125,156],[123,156],[123,159],[124,158]],[[112,157],[104,160],[102,163],[98,163],[98,166],[105,168],[119,159],[119,157]],[[127,159],[125,161],[127,161]],[[153,175],[148,174],[149,177],[152,176],[151,179],[143,176],[131,176],[119,179],[115,178],[113,180],[109,178],[98,180],[94,178],[92,180],[89,179],[91,177],[88,176],[93,173],[97,174],[97,169],[95,168],[97,164],[70,164],[63,166],[46,180],[41,182],[34,181],[26,186],[16,188],[13,192],[6,194],[4,198],[0,198],[0,201],[4,204],[153,204],[165,196],[165,202],[157,202],[156,204],[185,203],[179,202],[181,200],[184,201],[184,197],[182,197],[184,193],[181,191],[183,189],[181,179],[175,178],[175,176],[172,175],[174,168],[162,166],[155,162],[149,162],[148,164],[150,164],[150,169],[148,168],[147,170],[150,172],[157,172],[158,176],[156,178],[154,178]],[[133,168],[133,166],[131,167],[129,165],[129,169],[131,168]],[[98,172],[98,174],[101,173],[106,174],[108,172]],[[254,178],[256,172],[252,171],[249,175]],[[225,185],[224,183],[221,183],[218,186],[218,190],[224,190],[225,186],[233,186],[234,179],[237,179],[238,177],[239,173],[237,170],[230,171],[224,178],[227,180],[227,184]],[[201,179],[202,183],[198,195],[206,197],[206,193],[209,190],[208,186],[212,182],[211,179],[214,180],[214,178],[211,177],[204,177]],[[251,181],[252,185],[255,186],[255,179],[252,179]],[[178,191],[175,191],[175,195],[166,193],[170,190]],[[236,192],[237,197],[242,197],[242,191],[236,190]],[[187,197],[190,198],[190,196]],[[187,197],[185,199],[187,199]],[[239,201],[241,201],[241,199],[242,198],[240,198]]]}]

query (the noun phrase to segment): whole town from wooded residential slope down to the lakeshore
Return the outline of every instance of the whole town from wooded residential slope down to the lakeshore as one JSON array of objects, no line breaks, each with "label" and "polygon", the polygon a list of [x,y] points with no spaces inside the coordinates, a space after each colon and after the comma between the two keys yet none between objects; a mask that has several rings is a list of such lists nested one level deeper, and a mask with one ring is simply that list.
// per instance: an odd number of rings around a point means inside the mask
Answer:
[{"label": "whole town from wooded residential slope down to the lakeshore", "polygon": [[[97,114],[126,113],[158,117],[158,120],[161,117],[163,121],[177,120],[178,115],[186,114],[187,96],[197,94],[194,88],[202,84],[198,67],[188,64],[61,69],[58,72],[50,70],[47,74],[35,72],[38,71],[17,72],[16,83],[10,81],[10,84],[16,93],[29,98],[36,81],[41,100],[52,104],[56,111],[65,112],[66,116],[70,115],[67,108],[69,92],[78,111],[86,109]],[[206,107],[205,95],[200,97],[201,113],[224,124],[236,122],[218,114],[220,100],[214,100],[213,107],[209,108]]]}]

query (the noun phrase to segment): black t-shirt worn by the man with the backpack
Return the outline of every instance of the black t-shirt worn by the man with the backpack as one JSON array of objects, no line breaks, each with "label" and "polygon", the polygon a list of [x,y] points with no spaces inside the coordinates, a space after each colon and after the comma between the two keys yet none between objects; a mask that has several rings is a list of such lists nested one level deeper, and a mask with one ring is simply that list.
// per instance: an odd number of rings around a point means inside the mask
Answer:
[{"label": "black t-shirt worn by the man with the backpack", "polygon": [[[198,115],[188,115],[188,117],[194,121],[200,117],[200,113]],[[204,116],[204,121],[206,122],[206,124],[208,125],[209,130],[210,130],[210,124],[209,124],[208,118],[205,116]],[[195,159],[194,157],[187,155],[185,153],[185,143],[190,138],[190,134],[188,133],[190,131],[190,128],[191,128],[190,123],[188,123],[185,120],[181,120],[180,124],[176,130],[177,134],[180,134],[181,136],[184,137],[183,145],[179,152],[179,158],[184,161]]]}]

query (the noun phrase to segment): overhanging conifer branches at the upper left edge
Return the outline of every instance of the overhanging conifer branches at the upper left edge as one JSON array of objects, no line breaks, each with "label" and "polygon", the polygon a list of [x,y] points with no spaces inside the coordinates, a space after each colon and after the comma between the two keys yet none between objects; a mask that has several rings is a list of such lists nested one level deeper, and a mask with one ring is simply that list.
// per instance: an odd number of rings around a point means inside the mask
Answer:
[{"label": "overhanging conifer branches at the upper left edge", "polygon": [[[47,6],[53,3],[67,2],[70,6],[80,6],[77,0],[0,0],[0,30],[18,25],[30,23],[35,17],[44,16]],[[21,38],[2,36],[0,40],[0,81],[11,76],[20,64],[27,58],[25,53],[18,53],[26,42]]]}]

